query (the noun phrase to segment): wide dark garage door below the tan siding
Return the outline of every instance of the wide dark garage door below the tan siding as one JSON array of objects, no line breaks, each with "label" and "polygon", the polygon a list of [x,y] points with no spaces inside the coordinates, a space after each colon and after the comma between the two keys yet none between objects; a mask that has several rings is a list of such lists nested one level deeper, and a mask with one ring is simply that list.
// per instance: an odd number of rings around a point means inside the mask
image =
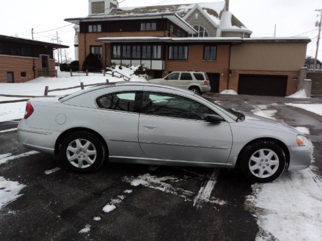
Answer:
[{"label": "wide dark garage door below the tan siding", "polygon": [[238,94],[285,96],[287,75],[239,74]]}]

